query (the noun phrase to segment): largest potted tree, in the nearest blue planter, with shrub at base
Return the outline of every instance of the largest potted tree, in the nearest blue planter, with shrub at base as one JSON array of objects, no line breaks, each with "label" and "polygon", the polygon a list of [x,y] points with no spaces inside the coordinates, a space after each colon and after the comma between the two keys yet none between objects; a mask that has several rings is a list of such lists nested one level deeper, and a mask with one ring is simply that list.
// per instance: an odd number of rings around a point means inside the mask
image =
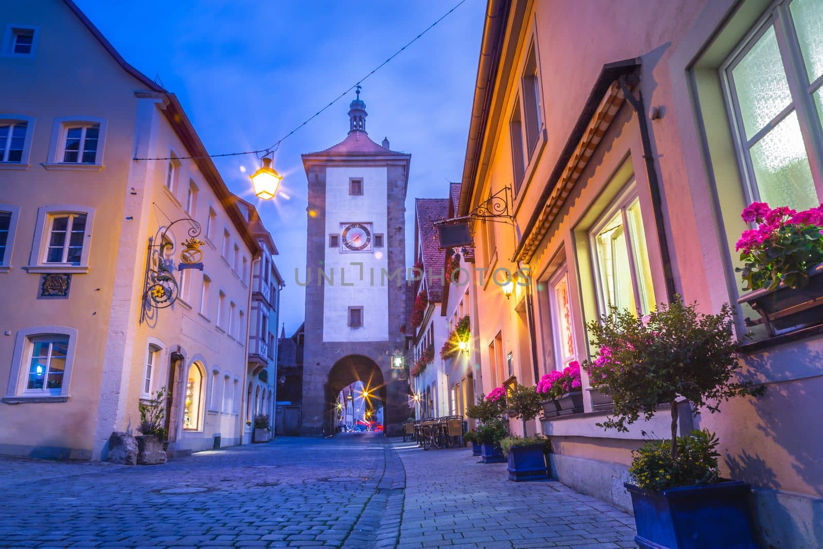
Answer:
[{"label": "largest potted tree, in the nearest blue planter, with shrub at base", "polygon": [[749,519],[750,486],[718,478],[717,440],[708,431],[677,437],[678,401],[692,413],[718,412],[721,402],[762,388],[733,380],[741,365],[728,304],[719,314],[700,314],[677,296],[658,305],[644,322],[612,309],[588,323],[597,358],[584,369],[595,388],[607,387],[614,412],[597,423],[625,431],[640,416],[649,420],[662,405],[672,416],[670,440],[635,451],[630,492],[641,547],[756,547]]}]

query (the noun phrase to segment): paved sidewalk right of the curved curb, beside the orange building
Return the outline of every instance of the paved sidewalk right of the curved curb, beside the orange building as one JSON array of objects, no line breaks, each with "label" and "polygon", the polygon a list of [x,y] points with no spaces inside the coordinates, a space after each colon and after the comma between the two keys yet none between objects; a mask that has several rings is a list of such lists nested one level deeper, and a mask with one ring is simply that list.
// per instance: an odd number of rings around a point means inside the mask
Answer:
[{"label": "paved sidewalk right of the curved curb, beside the orange building", "polygon": [[406,469],[400,549],[637,547],[629,515],[556,481],[511,482],[470,449],[394,444]]}]

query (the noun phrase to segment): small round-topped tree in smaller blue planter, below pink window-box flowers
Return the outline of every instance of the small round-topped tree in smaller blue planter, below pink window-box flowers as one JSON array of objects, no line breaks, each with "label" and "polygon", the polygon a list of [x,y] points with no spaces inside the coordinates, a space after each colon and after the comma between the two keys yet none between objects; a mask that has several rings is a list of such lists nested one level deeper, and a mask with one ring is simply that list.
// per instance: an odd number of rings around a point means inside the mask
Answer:
[{"label": "small round-topped tree in smaller blue planter, below pink window-box flowers", "polygon": [[[518,416],[523,422],[523,435],[526,434],[526,422],[532,421],[542,410],[541,398],[534,387],[514,384],[506,398],[509,412]],[[532,481],[548,478],[546,473],[546,442],[542,437],[506,437],[500,442],[500,448],[509,461],[509,480]]]}]

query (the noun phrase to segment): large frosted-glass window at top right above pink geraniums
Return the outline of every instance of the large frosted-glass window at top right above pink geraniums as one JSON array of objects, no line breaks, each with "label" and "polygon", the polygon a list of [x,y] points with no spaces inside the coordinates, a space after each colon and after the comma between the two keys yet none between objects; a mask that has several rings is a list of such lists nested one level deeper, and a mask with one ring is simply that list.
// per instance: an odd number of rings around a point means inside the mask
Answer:
[{"label": "large frosted-glass window at top right above pink geraniums", "polygon": [[823,198],[823,181],[809,163],[810,155],[823,156],[816,138],[823,119],[821,18],[816,0],[780,2],[723,66],[749,202],[802,210]]}]

